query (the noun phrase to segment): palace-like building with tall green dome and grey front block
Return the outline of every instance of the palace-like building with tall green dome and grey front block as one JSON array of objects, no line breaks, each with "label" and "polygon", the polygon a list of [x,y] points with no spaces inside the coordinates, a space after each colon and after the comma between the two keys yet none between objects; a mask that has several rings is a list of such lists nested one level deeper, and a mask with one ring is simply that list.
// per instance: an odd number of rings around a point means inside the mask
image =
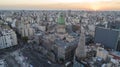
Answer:
[{"label": "palace-like building with tall green dome and grey front block", "polygon": [[58,62],[67,63],[72,61],[78,40],[66,32],[65,17],[62,13],[58,17],[55,34],[56,39],[54,41],[53,50],[57,56]]}]

